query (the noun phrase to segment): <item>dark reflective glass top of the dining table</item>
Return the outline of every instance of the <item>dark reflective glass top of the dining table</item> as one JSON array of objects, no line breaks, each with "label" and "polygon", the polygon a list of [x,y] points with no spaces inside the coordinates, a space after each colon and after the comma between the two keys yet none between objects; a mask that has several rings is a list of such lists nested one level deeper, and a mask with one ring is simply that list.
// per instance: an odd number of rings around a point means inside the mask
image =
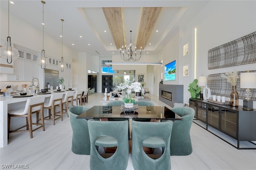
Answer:
[{"label": "dark reflective glass top of the dining table", "polygon": [[120,106],[93,106],[76,118],[102,120],[107,120],[108,118],[133,118],[151,119],[152,121],[183,120],[182,117],[165,106],[138,106],[138,109],[132,112],[126,112]]}]

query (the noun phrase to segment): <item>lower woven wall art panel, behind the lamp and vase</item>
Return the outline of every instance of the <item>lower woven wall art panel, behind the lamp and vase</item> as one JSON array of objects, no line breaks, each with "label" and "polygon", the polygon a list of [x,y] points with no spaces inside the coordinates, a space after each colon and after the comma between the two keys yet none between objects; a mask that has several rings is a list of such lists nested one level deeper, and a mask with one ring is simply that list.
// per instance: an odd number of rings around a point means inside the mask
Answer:
[{"label": "lower woven wall art panel, behind the lamp and vase", "polygon": [[[252,70],[250,72],[256,72],[256,70]],[[246,73],[246,71],[237,72],[239,78],[237,79],[237,82],[236,82],[236,91],[239,95],[239,99],[245,99],[246,89],[240,89],[240,73]],[[220,96],[230,97],[230,93],[232,91],[232,85],[228,83],[226,78],[223,78],[220,75],[221,73],[208,75],[207,86],[211,90],[211,95],[220,95]],[[251,92],[252,92],[252,97],[250,98],[250,100],[256,101],[256,89],[251,89]]]}]

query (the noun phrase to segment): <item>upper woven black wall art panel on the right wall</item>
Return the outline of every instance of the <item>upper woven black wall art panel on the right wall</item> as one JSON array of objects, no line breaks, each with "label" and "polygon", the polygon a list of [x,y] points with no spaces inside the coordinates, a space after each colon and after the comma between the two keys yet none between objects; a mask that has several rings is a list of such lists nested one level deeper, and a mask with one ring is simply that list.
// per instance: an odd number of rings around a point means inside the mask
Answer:
[{"label": "upper woven black wall art panel on the right wall", "polygon": [[208,51],[208,69],[256,63],[256,32]]}]

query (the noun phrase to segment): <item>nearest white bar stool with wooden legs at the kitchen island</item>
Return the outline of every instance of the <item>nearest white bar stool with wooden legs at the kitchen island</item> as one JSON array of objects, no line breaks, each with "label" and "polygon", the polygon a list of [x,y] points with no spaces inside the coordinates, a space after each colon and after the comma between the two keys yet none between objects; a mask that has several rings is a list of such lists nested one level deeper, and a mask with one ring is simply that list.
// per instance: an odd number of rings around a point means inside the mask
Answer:
[{"label": "nearest white bar stool with wooden legs at the kitchen island", "polygon": [[[26,102],[25,108],[22,109],[16,109],[12,111],[8,111],[8,139],[9,139],[9,134],[11,132],[25,132],[29,131],[30,133],[30,138],[33,138],[32,132],[39,128],[43,128],[44,131],[44,99],[45,97],[36,97],[36,98],[29,98]],[[32,123],[32,114],[33,113],[40,113],[41,115],[41,121],[42,123]],[[17,128],[15,130],[10,130],[10,122],[11,122],[11,117],[26,117],[26,125],[23,127],[26,127],[26,130],[18,130],[20,128]],[[32,125],[41,125],[40,127],[37,127],[35,129],[32,129]]]}]

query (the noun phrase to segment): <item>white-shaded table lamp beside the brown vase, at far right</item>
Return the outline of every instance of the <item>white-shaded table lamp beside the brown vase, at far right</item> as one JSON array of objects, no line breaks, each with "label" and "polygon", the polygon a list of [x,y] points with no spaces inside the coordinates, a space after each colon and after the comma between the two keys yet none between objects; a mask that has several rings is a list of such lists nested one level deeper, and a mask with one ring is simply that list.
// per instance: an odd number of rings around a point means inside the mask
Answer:
[{"label": "white-shaded table lamp beside the brown vase, at far right", "polygon": [[256,89],[256,73],[240,73],[240,88],[246,89],[245,100],[243,101],[243,109],[252,110],[253,101],[250,101],[252,92],[250,89]]}]

